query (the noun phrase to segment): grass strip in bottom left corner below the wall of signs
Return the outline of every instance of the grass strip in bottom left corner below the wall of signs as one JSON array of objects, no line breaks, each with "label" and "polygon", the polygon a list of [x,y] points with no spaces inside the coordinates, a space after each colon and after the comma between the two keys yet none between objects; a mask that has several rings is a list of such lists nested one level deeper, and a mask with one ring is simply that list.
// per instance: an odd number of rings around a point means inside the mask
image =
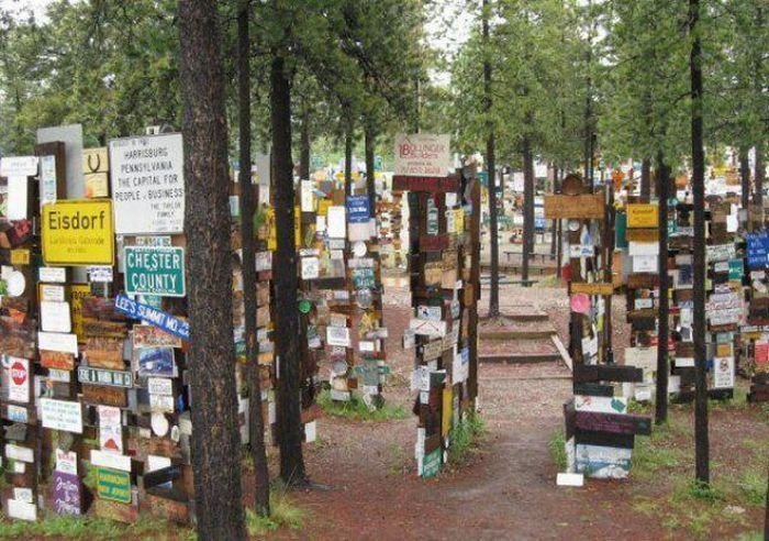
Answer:
[{"label": "grass strip in bottom left corner below the wall of signs", "polygon": [[[132,525],[99,517],[51,516],[36,522],[0,521],[0,539],[45,537],[58,539],[126,539],[132,537],[164,539],[168,523],[152,517],[140,518]],[[190,530],[191,531],[191,530]],[[176,533],[181,533],[175,530]],[[183,530],[182,530],[183,532]]]}]

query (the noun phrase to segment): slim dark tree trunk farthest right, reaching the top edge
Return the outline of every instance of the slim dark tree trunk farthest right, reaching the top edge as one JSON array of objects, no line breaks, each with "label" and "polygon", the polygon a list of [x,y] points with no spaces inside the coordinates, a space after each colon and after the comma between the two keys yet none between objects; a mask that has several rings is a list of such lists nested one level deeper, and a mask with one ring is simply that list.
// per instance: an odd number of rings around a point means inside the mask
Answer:
[{"label": "slim dark tree trunk farthest right, reaching the top edge", "polygon": [[705,333],[705,152],[703,146],[702,41],[700,0],[689,0],[689,33],[692,36],[689,60],[691,77],[692,192],[694,196],[694,451],[696,479],[710,483],[710,442],[707,434],[707,344]]}]

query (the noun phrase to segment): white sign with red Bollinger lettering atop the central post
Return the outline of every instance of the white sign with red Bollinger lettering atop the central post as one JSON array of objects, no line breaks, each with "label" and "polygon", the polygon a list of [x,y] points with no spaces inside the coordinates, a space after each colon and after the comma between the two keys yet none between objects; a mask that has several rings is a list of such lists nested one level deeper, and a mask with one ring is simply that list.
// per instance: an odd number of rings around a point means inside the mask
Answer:
[{"label": "white sign with red Bollinger lettering atop the central post", "polygon": [[395,175],[446,177],[452,166],[449,136],[432,133],[395,135]]}]

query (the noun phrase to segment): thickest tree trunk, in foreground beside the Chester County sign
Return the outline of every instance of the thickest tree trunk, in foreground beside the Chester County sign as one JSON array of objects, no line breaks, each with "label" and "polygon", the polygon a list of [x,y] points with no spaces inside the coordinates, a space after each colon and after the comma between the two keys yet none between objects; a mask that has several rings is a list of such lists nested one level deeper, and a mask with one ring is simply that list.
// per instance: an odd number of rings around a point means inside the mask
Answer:
[{"label": "thickest tree trunk, in foreground beside the Chester County sign", "polygon": [[216,20],[215,2],[179,1],[185,232],[194,241],[187,247],[191,451],[199,538],[245,539],[232,340],[227,125]]}]

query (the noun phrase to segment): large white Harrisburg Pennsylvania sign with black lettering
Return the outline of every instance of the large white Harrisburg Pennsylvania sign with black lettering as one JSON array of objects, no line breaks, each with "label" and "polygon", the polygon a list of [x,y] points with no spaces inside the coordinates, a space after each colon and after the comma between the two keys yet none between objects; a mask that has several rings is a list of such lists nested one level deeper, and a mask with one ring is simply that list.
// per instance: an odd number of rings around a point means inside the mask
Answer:
[{"label": "large white Harrisburg Pennsylvania sign with black lettering", "polygon": [[183,231],[183,165],[180,133],[110,141],[118,234]]}]

